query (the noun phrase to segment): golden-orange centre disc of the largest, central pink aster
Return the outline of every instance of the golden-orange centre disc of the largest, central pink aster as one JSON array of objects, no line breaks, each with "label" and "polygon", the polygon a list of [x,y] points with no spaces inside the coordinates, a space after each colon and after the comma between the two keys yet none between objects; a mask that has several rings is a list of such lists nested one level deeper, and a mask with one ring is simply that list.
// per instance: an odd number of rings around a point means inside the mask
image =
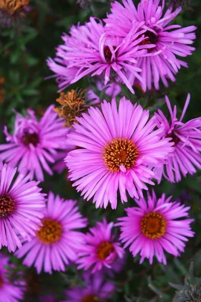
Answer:
[{"label": "golden-orange centre disc of the largest, central pink aster", "polygon": [[133,168],[138,156],[138,148],[134,142],[127,138],[113,139],[104,147],[104,161],[110,172],[120,172],[120,166]]}]

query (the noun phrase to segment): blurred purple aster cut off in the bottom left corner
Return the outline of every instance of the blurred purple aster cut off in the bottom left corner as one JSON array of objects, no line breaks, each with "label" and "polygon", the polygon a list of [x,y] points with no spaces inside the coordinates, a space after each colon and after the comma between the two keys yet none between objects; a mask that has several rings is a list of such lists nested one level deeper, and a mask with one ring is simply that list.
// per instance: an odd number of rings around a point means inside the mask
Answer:
[{"label": "blurred purple aster cut off in the bottom left corner", "polygon": [[0,253],[0,302],[18,302],[24,297],[25,282],[9,280],[9,257]]}]

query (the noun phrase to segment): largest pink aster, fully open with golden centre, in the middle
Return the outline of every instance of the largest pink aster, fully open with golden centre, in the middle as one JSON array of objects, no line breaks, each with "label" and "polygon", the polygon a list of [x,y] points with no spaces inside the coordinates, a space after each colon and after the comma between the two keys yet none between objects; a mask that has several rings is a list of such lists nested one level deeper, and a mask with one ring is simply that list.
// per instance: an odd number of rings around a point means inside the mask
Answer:
[{"label": "largest pink aster, fully open with golden centre, in the middle", "polygon": [[84,198],[94,195],[96,207],[106,208],[110,201],[115,209],[118,189],[121,201],[127,202],[126,190],[139,198],[143,189],[148,190],[145,183],[154,185],[154,172],[147,165],[160,166],[174,143],[161,139],[164,129],[153,130],[156,118],[148,121],[149,110],[133,106],[125,97],[119,112],[115,99],[112,105],[104,101],[102,111],[90,108],[89,115],[77,118],[80,125],[74,124],[76,131],[67,135],[67,143],[80,148],[69,152],[65,162],[71,180],[77,180],[73,186]]}]

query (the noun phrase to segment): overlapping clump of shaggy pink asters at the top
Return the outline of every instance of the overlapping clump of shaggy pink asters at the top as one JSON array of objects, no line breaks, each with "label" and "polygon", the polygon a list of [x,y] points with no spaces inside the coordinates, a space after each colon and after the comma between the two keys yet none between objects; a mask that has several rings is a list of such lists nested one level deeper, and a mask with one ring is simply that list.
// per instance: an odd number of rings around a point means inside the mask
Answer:
[{"label": "overlapping clump of shaggy pink asters at the top", "polygon": [[165,0],[141,0],[136,8],[132,0],[123,0],[123,5],[112,3],[105,24],[91,17],[85,25],[72,26],[62,36],[56,57],[47,59],[59,89],[87,74],[98,76],[104,85],[125,84],[132,93],[136,83],[145,92],[153,85],[159,89],[160,80],[166,87],[168,80],[174,82],[178,69],[187,67],[179,57],[195,49],[189,45],[196,27],[168,25],[181,7],[164,12],[164,5]]}]

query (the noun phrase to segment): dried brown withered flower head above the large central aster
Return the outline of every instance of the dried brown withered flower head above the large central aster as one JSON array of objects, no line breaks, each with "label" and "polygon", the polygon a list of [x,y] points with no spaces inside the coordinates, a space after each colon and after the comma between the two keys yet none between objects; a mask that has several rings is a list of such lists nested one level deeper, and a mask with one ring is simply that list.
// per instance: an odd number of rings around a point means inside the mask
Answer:
[{"label": "dried brown withered flower head above the large central aster", "polygon": [[64,127],[72,127],[72,124],[76,122],[75,117],[80,117],[83,112],[86,112],[88,105],[84,100],[84,93],[87,89],[71,91],[65,94],[64,92],[60,93],[60,97],[56,100],[61,107],[54,108],[59,117],[63,117],[65,120]]}]

